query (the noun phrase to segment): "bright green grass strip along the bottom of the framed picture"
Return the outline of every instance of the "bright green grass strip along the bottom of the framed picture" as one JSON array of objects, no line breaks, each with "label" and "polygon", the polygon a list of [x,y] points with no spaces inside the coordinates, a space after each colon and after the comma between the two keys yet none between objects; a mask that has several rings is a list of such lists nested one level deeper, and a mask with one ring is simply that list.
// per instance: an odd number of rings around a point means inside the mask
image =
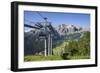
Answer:
[{"label": "bright green grass strip along the bottom of the framed picture", "polygon": [[[89,59],[89,56],[72,56],[66,60]],[[51,60],[64,60],[61,56],[34,56],[29,55],[24,57],[25,62],[30,61],[51,61]]]}]

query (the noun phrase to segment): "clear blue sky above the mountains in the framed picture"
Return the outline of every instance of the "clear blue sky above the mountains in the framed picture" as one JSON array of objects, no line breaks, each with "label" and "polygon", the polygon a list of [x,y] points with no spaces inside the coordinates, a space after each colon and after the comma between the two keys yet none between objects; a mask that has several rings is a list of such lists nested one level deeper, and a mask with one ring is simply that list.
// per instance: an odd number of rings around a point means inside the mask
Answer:
[{"label": "clear blue sky above the mountains in the framed picture", "polygon": [[[58,13],[58,12],[39,12],[42,16],[47,17],[54,27],[60,24],[73,24],[81,27],[90,27],[90,14],[83,13]],[[24,11],[24,23],[44,22],[43,18],[34,11]]]}]

